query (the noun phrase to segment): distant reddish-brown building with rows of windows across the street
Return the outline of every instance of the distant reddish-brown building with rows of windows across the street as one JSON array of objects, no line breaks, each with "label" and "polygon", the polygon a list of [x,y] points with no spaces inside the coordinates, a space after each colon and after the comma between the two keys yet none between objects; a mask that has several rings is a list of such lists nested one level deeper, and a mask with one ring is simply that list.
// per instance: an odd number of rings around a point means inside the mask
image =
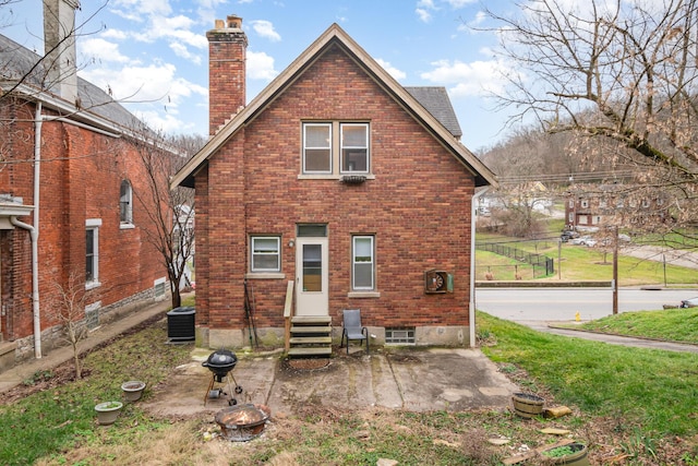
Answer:
[{"label": "distant reddish-brown building with rows of windows across the street", "polygon": [[567,228],[595,229],[606,225],[642,226],[669,219],[662,193],[643,192],[636,186],[600,184],[569,190],[565,196]]}]

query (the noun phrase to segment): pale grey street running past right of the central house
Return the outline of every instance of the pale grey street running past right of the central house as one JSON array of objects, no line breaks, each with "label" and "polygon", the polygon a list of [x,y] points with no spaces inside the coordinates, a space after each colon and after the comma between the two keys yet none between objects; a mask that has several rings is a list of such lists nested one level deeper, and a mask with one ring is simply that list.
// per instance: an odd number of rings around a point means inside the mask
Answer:
[{"label": "pale grey street running past right of the central house", "polygon": [[[698,296],[697,289],[621,289],[618,312],[660,310]],[[595,320],[613,313],[611,288],[477,288],[476,307],[515,322]]]}]

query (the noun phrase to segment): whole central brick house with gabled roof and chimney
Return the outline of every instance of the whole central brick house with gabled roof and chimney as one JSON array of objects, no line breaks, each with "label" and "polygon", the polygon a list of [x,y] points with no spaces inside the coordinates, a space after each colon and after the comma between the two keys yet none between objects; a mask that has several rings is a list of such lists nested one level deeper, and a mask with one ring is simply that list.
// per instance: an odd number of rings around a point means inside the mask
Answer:
[{"label": "whole central brick house with gabled roof and chimney", "polygon": [[197,344],[280,345],[287,302],[335,342],[360,309],[372,344],[474,343],[471,205],[495,179],[445,89],[402,87],[335,24],[245,106],[241,22],[207,33],[212,138],[172,180],[195,189]]}]

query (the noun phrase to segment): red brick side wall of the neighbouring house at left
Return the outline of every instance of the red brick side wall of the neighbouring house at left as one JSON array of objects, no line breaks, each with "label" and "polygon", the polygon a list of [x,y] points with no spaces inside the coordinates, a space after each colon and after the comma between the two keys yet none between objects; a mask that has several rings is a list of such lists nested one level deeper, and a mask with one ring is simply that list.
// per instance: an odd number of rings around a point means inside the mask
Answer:
[{"label": "red brick side wall of the neighbouring house at left", "polygon": [[[25,117],[33,115],[26,108]],[[47,111],[45,111],[47,113]],[[34,157],[32,123],[16,123],[12,157]],[[87,304],[101,301],[109,306],[153,288],[154,280],[166,276],[157,251],[145,239],[144,225],[149,219],[134,205],[132,229],[121,229],[119,196],[121,180],[131,180],[134,191],[145,190],[145,179],[133,146],[125,139],[100,135],[86,129],[58,121],[41,126],[41,164],[39,193],[39,297],[41,328],[57,323],[51,316],[58,298],[56,284],[65,287],[71,274],[85,278],[85,222],[101,219],[99,227],[99,282],[89,291]],[[22,196],[24,204],[35,204],[33,164],[9,166],[2,175],[0,192]],[[135,196],[134,196],[135,200]],[[22,217],[32,224],[33,217]],[[11,303],[13,326],[4,338],[22,338],[34,333],[31,296],[31,242],[26,230],[16,228],[2,236],[3,303]],[[10,259],[5,260],[5,255]],[[12,284],[12,297],[5,285]]]}]

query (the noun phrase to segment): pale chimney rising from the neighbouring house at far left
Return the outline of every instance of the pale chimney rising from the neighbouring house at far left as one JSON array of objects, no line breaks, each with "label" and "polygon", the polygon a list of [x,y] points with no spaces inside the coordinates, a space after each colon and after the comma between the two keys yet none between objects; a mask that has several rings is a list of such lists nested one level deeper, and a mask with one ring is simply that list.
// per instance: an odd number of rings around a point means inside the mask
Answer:
[{"label": "pale chimney rising from the neighbouring house at far left", "polygon": [[46,87],[71,104],[77,99],[75,9],[79,0],[44,0]]}]

